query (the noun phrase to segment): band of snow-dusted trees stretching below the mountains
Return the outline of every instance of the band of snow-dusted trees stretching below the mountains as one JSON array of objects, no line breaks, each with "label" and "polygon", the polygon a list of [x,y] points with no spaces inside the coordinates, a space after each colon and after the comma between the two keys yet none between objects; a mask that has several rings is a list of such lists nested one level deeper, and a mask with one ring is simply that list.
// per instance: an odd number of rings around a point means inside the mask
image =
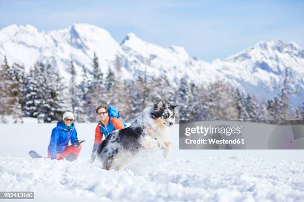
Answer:
[{"label": "band of snow-dusted trees stretching below the mountains", "polygon": [[302,107],[292,107],[289,96],[293,91],[288,71],[285,71],[280,94],[271,100],[257,101],[228,83],[217,81],[208,86],[197,86],[186,78],[177,85],[168,81],[165,73],[152,77],[146,71],[138,72],[133,79],[122,79],[121,72],[107,68],[103,75],[98,57],[94,53],[92,71],[82,69],[81,82],[73,61],[70,64],[71,80],[59,75],[50,64],[36,62],[25,72],[22,65],[8,65],[6,58],[0,66],[0,122],[22,123],[23,117],[35,117],[42,122],[61,120],[64,111],[72,111],[77,122],[92,122],[95,108],[110,104],[130,121],[145,107],[161,99],[179,105],[179,119],[190,120],[248,120],[279,123],[287,119],[304,119]]}]

